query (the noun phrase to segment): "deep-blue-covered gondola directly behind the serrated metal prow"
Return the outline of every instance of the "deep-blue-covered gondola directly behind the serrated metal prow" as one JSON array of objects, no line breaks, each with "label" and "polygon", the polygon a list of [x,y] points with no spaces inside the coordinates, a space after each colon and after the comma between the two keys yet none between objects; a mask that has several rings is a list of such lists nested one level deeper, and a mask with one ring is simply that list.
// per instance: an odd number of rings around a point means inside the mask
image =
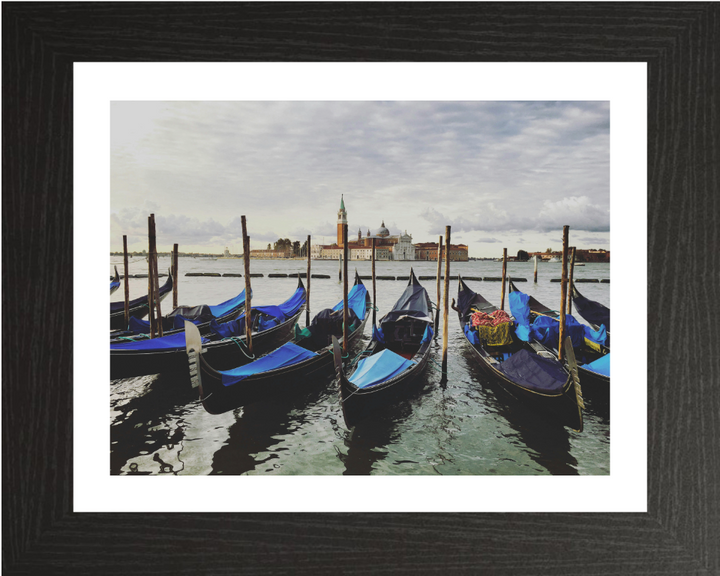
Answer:
[{"label": "deep-blue-covered gondola directly behind the serrated metal prow", "polygon": [[[298,287],[287,301],[252,308],[253,355],[246,344],[244,312],[229,322],[211,322],[211,333],[203,338],[208,363],[228,370],[285,343],[305,309],[306,298],[305,285],[298,278]],[[188,376],[185,330],[161,338],[125,339],[110,344],[111,380],[165,372]]]}]

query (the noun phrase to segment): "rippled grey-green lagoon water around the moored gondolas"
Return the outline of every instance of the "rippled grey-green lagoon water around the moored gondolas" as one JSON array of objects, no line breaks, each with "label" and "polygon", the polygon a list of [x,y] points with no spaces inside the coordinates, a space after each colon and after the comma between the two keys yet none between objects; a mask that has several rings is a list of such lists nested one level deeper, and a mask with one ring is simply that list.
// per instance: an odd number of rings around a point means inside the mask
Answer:
[{"label": "rippled grey-green lagoon water around the moored gondolas", "polygon": [[[113,257],[122,273],[122,258]],[[112,271],[112,265],[110,270]],[[160,258],[167,270],[169,258]],[[435,275],[432,262],[378,262],[378,275]],[[144,259],[131,259],[130,274],[147,272]],[[217,304],[244,288],[244,278],[186,277],[187,272],[239,272],[242,260],[180,258],[180,304]],[[337,261],[313,261],[312,273],[331,279],[312,279],[311,315],[342,299]],[[370,262],[351,262],[370,275]],[[253,303],[275,304],[295,290],[295,278],[268,278],[273,272],[305,272],[306,261],[251,262]],[[444,269],[444,265],[443,265]],[[498,262],[452,263],[451,275],[500,276]],[[508,273],[527,278],[518,287],[543,304],[559,308],[560,264],[538,265],[534,284],[532,263],[509,263]],[[586,264],[575,278],[608,278],[607,264]],[[352,276],[351,276],[352,277]],[[433,302],[436,281],[421,281]],[[500,282],[468,285],[496,305]],[[365,281],[371,292],[372,283]],[[404,290],[406,281],[377,281],[378,318]],[[583,295],[610,305],[610,285],[580,284]],[[147,291],[147,280],[130,279],[130,297]],[[122,298],[122,288],[111,300]],[[457,281],[450,282],[457,296]],[[167,313],[172,296],[163,302]],[[507,309],[506,296],[506,309]],[[147,376],[118,380],[110,386],[111,474],[432,474],[432,475],[548,475],[610,473],[610,422],[592,407],[584,413],[585,429],[576,433],[554,426],[522,404],[509,399],[488,381],[450,311],[448,380],[441,384],[439,364],[442,334],[431,362],[414,393],[392,416],[351,434],[345,427],[332,377],[293,390],[287,398],[257,403],[222,415],[205,412],[197,394],[172,378]],[[305,315],[300,322],[304,325]],[[442,322],[440,324],[442,326]],[[369,342],[370,322],[364,344]]]}]

